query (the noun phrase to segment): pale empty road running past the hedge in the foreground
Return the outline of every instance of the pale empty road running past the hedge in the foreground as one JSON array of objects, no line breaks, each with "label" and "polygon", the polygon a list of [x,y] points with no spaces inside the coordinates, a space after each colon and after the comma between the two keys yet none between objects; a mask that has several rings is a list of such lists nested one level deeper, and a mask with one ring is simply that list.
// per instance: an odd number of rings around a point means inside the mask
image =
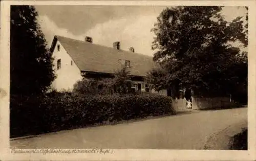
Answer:
[{"label": "pale empty road running past the hedge in the foreground", "polygon": [[[247,127],[247,108],[193,111],[189,114],[11,140],[10,147],[200,150],[216,147],[211,145],[216,143],[208,140],[218,136],[224,129],[231,128],[236,133],[242,127]],[[227,139],[224,141],[227,142]],[[223,139],[219,142],[223,143]]]}]

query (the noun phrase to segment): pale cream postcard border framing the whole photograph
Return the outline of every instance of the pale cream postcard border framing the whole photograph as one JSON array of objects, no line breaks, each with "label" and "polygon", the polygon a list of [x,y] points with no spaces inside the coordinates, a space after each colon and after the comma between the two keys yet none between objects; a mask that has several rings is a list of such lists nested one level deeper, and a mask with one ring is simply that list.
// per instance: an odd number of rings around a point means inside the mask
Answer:
[{"label": "pale cream postcard border framing the whole photograph", "polygon": [[[10,76],[10,5],[131,5],[131,6],[249,6],[248,45],[248,151],[221,150],[114,150],[113,154],[11,154],[9,150],[9,76]],[[3,160],[255,160],[255,1],[2,1],[0,88],[7,92],[0,98],[1,152]],[[228,118],[227,118],[228,119]]]}]

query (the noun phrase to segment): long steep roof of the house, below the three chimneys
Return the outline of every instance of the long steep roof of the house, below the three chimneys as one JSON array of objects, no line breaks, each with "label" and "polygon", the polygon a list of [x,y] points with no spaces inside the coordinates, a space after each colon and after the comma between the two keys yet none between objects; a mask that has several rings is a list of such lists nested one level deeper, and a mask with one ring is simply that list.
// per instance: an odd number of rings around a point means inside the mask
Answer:
[{"label": "long steep roof of the house, below the three chimneys", "polygon": [[54,49],[57,40],[74,60],[80,71],[115,73],[121,68],[119,60],[129,60],[131,61],[131,75],[146,76],[146,73],[154,66],[150,56],[62,36],[54,37],[51,50]]}]

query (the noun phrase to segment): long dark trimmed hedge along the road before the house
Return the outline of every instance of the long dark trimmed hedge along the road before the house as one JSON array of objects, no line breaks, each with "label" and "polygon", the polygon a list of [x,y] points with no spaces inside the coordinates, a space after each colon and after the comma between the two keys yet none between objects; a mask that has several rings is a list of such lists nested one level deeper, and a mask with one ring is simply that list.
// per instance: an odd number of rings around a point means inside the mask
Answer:
[{"label": "long dark trimmed hedge along the road before the house", "polygon": [[175,113],[171,98],[145,94],[53,93],[27,101],[12,99],[10,109],[11,137]]}]

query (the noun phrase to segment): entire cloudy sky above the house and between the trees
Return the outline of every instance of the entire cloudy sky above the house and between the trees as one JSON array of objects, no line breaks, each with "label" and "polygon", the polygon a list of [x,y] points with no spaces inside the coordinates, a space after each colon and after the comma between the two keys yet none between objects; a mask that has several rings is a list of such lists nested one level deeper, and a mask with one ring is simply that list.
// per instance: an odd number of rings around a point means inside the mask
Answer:
[{"label": "entire cloudy sky above the house and between the trees", "polygon": [[[78,40],[90,36],[93,43],[112,47],[113,42],[120,41],[122,50],[134,47],[136,53],[149,56],[154,53],[151,29],[166,7],[171,6],[35,6],[48,45],[54,35]],[[246,10],[224,7],[222,14],[231,21],[237,16],[245,17]]]}]

